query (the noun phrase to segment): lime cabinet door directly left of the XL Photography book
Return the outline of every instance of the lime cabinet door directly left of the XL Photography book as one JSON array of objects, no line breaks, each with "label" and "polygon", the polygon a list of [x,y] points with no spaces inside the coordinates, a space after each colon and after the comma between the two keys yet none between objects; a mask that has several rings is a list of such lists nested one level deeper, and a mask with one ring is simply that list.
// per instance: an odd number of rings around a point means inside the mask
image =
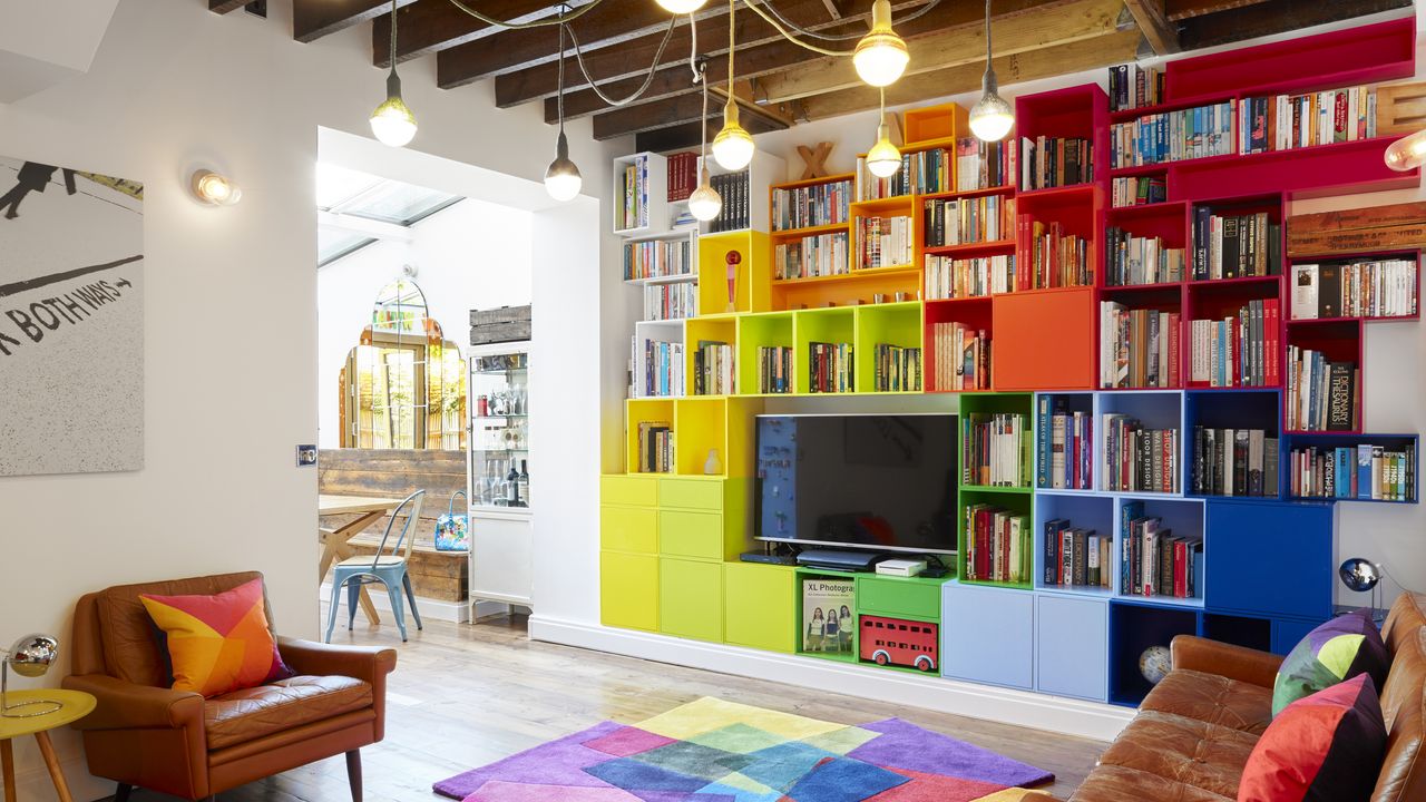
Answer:
[{"label": "lime cabinet door directly left of the XL Photography book", "polygon": [[793,652],[797,648],[797,574],[791,567],[723,564],[723,642]]}]

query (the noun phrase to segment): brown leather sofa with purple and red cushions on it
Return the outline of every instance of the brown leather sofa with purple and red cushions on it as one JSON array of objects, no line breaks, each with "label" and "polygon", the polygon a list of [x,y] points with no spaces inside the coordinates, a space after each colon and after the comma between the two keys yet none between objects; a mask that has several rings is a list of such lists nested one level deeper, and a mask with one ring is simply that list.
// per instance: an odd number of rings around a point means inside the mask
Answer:
[{"label": "brown leather sofa with purple and red cushions on it", "polygon": [[[1426,595],[1403,594],[1382,629],[1386,761],[1370,802],[1426,801]],[[1248,755],[1272,721],[1282,658],[1181,635],[1174,671],[1099,758],[1070,802],[1233,802]],[[1052,801],[1037,793],[1025,802]],[[1342,802],[1352,802],[1343,799]]]}]

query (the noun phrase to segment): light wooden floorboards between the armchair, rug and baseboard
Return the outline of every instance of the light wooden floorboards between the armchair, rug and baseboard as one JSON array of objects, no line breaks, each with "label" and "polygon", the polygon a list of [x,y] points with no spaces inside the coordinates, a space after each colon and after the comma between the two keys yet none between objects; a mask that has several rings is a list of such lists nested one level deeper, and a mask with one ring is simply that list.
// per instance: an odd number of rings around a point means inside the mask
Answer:
[{"label": "light wooden floorboards between the armchair, rug and baseboard", "polygon": [[[1104,743],[945,714],[907,709],[532,642],[523,616],[478,625],[426,622],[402,645],[394,626],[359,622],[334,644],[394,645],[401,656],[386,696],[386,739],[362,749],[366,802],[441,801],[431,783],[605,719],[633,724],[700,696],[719,696],[824,721],[864,724],[887,716],[963,738],[1055,772],[1048,788],[1067,798]],[[349,802],[342,758],[332,758],[220,795],[221,802]],[[134,802],[170,799],[138,793]]]}]

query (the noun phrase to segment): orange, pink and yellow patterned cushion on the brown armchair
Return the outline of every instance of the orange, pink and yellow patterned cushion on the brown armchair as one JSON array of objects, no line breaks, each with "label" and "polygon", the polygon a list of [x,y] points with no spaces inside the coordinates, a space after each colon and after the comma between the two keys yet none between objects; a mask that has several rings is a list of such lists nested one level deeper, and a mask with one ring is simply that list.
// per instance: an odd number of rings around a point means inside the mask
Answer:
[{"label": "orange, pink and yellow patterned cushion on the brown armchair", "polygon": [[292,676],[268,629],[262,579],[212,597],[138,597],[168,635],[174,691],[217,696]]}]

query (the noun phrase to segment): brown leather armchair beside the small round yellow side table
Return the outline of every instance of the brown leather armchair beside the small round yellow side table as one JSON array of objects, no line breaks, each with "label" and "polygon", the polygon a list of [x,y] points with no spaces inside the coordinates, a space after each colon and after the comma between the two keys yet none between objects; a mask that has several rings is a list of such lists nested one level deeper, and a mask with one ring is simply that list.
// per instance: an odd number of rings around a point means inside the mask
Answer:
[{"label": "brown leather armchair beside the small round yellow side table", "polygon": [[361,802],[359,749],[385,734],[395,651],[278,638],[282,659],[298,674],[291,679],[211,699],[168,688],[157,629],[138,595],[220,594],[261,577],[120,585],[80,598],[74,674],[64,686],[98,699],[74,726],[83,731],[90,773],[118,782],[116,802],[134,786],[211,799],[339,753],[347,755],[352,799]]}]

